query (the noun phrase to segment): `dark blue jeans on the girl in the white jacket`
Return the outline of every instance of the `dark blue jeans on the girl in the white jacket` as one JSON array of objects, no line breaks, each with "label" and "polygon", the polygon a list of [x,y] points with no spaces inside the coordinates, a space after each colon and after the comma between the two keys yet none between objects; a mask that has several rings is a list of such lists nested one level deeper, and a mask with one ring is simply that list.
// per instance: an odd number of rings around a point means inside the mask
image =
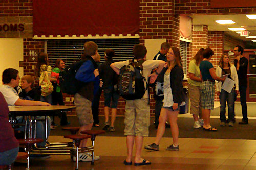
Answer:
[{"label": "dark blue jeans on the girl in the white jacket", "polygon": [[222,122],[226,122],[226,101],[228,106],[228,121],[234,122],[234,89],[230,93],[225,90],[221,90],[220,93],[220,104],[221,104],[221,112],[220,112],[220,120]]}]

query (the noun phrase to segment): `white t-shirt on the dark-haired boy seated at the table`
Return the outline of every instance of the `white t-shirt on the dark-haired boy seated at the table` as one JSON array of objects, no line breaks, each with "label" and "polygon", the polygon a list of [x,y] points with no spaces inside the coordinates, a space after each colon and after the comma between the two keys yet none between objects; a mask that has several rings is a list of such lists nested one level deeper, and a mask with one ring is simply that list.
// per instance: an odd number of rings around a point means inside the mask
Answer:
[{"label": "white t-shirt on the dark-haired boy seated at the table", "polygon": [[14,103],[19,99],[18,93],[6,84],[0,86],[0,92],[4,95],[4,98],[8,106],[14,106]]}]

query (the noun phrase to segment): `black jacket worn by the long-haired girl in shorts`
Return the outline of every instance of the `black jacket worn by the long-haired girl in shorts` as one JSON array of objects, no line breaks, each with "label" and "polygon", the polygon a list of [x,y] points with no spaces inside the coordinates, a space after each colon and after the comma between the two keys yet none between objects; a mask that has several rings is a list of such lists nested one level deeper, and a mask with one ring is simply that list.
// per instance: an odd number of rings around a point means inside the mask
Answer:
[{"label": "black jacket worn by the long-haired girl in shorts", "polygon": [[[164,75],[167,68],[163,68],[161,75]],[[160,76],[160,75],[159,75]],[[163,79],[163,76],[161,76]],[[183,70],[178,65],[174,66],[172,71],[170,71],[170,88],[172,88],[174,103],[179,103],[185,101],[185,93],[183,91]]]}]

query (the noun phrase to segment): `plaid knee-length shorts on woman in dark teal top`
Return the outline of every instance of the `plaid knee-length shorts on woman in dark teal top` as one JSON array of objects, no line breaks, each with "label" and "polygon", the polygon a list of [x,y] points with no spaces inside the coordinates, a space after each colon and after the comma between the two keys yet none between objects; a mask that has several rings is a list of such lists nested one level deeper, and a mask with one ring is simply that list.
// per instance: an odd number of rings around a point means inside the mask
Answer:
[{"label": "plaid knee-length shorts on woman in dark teal top", "polygon": [[204,81],[200,85],[201,105],[203,109],[214,109],[214,82]]}]

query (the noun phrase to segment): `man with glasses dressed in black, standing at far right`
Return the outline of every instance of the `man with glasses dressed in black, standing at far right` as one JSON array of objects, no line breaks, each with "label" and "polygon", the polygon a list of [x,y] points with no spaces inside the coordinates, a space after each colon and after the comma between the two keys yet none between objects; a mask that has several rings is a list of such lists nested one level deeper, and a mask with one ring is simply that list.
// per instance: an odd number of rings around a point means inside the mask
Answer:
[{"label": "man with glasses dressed in black, standing at far right", "polygon": [[238,124],[248,124],[247,117],[247,105],[246,105],[246,88],[247,88],[247,67],[248,60],[242,54],[244,48],[240,45],[234,47],[234,66],[236,66],[238,72],[239,92],[240,92],[240,103],[242,106],[243,119]]}]

